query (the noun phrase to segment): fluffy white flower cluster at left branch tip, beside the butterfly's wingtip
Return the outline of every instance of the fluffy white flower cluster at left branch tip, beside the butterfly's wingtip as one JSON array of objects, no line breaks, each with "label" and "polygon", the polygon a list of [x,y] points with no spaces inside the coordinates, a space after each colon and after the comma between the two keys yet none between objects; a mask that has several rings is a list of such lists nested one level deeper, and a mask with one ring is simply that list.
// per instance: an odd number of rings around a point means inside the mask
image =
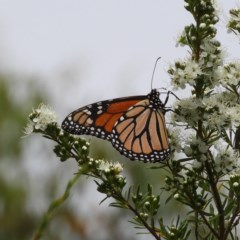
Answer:
[{"label": "fluffy white flower cluster at left branch tip, beside the butterfly's wingtip", "polygon": [[29,115],[29,120],[26,128],[24,129],[24,134],[29,135],[34,130],[44,131],[48,124],[57,122],[56,113],[44,104],[40,104],[37,109],[33,109],[33,112]]}]

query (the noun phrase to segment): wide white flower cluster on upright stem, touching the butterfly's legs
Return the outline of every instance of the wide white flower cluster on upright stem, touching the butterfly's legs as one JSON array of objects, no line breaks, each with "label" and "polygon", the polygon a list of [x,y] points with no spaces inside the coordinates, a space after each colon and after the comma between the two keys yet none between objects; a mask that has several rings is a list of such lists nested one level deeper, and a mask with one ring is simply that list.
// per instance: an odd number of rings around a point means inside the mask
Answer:
[{"label": "wide white flower cluster on upright stem, touching the butterfly's legs", "polygon": [[232,128],[240,125],[240,105],[233,94],[213,94],[203,99],[182,99],[174,106],[173,125],[196,126],[202,120],[207,129]]}]

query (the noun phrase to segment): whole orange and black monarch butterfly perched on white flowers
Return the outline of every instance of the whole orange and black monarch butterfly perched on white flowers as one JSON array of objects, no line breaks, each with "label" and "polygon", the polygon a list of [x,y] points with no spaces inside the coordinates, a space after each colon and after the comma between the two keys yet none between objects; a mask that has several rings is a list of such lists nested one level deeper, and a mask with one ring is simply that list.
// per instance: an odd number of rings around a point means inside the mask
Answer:
[{"label": "whole orange and black monarch butterfly perched on white flowers", "polygon": [[62,128],[76,135],[92,135],[112,143],[131,160],[160,162],[171,153],[164,115],[169,111],[160,93],[96,102],[70,113]]}]

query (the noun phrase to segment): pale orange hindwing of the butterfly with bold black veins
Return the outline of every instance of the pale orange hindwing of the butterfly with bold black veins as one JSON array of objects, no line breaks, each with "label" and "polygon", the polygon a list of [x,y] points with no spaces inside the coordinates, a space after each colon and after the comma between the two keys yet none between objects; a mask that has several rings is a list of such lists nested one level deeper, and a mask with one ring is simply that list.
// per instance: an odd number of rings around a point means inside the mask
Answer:
[{"label": "pale orange hindwing of the butterfly with bold black veins", "polygon": [[170,154],[164,113],[149,99],[131,107],[115,124],[113,146],[132,160],[157,162]]}]

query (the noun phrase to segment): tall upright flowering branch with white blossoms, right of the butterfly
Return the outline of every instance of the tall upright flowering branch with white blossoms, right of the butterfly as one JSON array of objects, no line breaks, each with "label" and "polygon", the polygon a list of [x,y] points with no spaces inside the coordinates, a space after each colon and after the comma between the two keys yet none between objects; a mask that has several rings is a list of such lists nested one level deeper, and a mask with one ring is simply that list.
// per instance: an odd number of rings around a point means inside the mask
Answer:
[{"label": "tall upright flowering branch with white blossoms, right of the butterfly", "polygon": [[[226,230],[225,225],[224,205],[227,199],[223,197],[224,195],[219,191],[217,185],[219,185],[221,177],[227,176],[223,173],[226,171],[225,166],[219,166],[219,164],[224,165],[224,161],[225,163],[231,161],[233,165],[226,165],[228,168],[235,168],[238,165],[238,153],[233,148],[231,141],[229,139],[226,141],[226,139],[228,133],[232,133],[234,126],[238,126],[238,123],[236,124],[238,120],[234,119],[234,115],[236,116],[239,111],[238,105],[236,105],[237,101],[230,102],[230,99],[227,98],[234,98],[234,95],[237,95],[237,99],[239,99],[239,78],[236,76],[239,71],[236,71],[235,64],[234,68],[232,68],[232,64],[231,67],[223,65],[220,43],[215,39],[217,30],[214,25],[217,23],[218,17],[213,1],[185,0],[185,2],[185,8],[193,15],[195,24],[185,28],[179,38],[179,43],[190,47],[192,54],[188,62],[177,62],[175,67],[169,69],[169,73],[176,89],[189,85],[193,95],[190,99],[178,103],[175,107],[176,114],[173,121],[184,123],[187,129],[192,130],[189,131],[191,140],[187,139],[189,147],[185,146],[183,152],[196,159],[195,165],[201,169],[201,178],[210,185],[208,191],[212,194],[213,203],[218,212],[215,216],[217,221],[214,227],[211,225],[211,221],[210,224],[207,223],[210,220],[210,218],[206,219],[207,215],[202,214],[202,211],[199,213],[212,235],[217,239],[224,240],[229,234],[229,226]],[[235,13],[236,16],[236,12],[237,10],[231,13]],[[233,27],[233,24],[231,23],[229,26]],[[236,29],[237,24],[234,26]],[[232,76],[224,75],[226,71],[234,74]],[[220,86],[222,92],[219,93],[216,90]],[[226,150],[217,149],[217,144],[225,145]],[[229,151],[232,152],[231,155]],[[223,158],[223,156],[225,157]],[[219,158],[221,158],[221,162],[217,162]],[[207,202],[205,204],[207,205],[204,208],[208,206]],[[238,211],[238,208],[236,209]],[[196,230],[196,238],[198,234],[199,232]]]}]

